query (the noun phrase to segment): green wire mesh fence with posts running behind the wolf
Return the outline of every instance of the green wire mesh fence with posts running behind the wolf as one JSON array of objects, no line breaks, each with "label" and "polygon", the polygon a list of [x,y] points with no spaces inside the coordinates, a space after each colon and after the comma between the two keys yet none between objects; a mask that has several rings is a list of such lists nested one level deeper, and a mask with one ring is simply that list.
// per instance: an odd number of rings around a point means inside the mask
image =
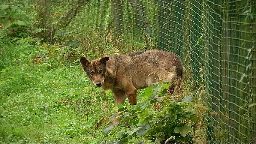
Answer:
[{"label": "green wire mesh fence with posts running behind the wolf", "polygon": [[204,86],[210,143],[256,143],[256,1],[26,2],[48,29],[48,40],[63,31],[111,34],[127,43],[154,41],[158,49],[175,52],[192,80]]}]

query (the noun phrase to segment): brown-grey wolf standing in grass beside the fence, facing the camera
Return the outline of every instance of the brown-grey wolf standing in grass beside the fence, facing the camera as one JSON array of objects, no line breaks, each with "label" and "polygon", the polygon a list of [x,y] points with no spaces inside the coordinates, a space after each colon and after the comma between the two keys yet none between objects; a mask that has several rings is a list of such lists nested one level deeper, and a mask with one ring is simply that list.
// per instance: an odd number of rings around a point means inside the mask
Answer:
[{"label": "brown-grey wolf standing in grass beside the fence, facing the camera", "polygon": [[92,61],[81,57],[80,64],[96,87],[111,89],[116,105],[123,104],[126,98],[131,105],[137,104],[137,89],[155,82],[171,82],[169,93],[176,94],[185,72],[179,56],[159,49],[103,56]]}]

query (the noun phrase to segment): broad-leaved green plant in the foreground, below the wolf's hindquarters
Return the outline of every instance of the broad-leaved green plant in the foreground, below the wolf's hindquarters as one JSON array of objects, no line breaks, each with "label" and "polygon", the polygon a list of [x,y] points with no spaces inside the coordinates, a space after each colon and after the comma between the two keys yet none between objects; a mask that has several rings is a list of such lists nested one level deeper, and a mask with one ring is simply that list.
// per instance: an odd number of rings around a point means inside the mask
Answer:
[{"label": "broad-leaved green plant in the foreground, below the wolf's hindquarters", "polygon": [[192,98],[174,100],[166,95],[169,86],[168,82],[155,83],[145,89],[143,100],[137,105],[116,106],[119,122],[103,131],[119,131],[118,140],[110,143],[127,143],[133,137],[154,143],[193,143],[199,117],[191,108]]}]

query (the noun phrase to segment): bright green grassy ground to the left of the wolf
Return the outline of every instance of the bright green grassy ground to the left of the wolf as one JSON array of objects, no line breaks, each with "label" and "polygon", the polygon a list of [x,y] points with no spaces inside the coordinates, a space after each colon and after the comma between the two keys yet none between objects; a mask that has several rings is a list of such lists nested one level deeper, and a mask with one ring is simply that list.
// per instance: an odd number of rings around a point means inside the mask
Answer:
[{"label": "bright green grassy ground to the left of the wolf", "polygon": [[[79,65],[78,53],[67,61],[64,46],[31,41],[1,43],[0,143],[116,140],[115,133],[102,133],[112,116],[111,91],[92,85]],[[182,93],[194,94],[188,85]],[[142,95],[143,90],[138,91],[138,100]]]}]

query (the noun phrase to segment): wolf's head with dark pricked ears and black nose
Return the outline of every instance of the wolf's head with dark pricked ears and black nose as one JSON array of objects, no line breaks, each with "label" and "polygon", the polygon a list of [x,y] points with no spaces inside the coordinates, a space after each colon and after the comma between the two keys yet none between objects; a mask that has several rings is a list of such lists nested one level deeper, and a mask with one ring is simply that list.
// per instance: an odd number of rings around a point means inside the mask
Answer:
[{"label": "wolf's head with dark pricked ears and black nose", "polygon": [[101,87],[104,83],[106,76],[106,64],[109,57],[102,57],[92,61],[88,61],[86,58],[81,57],[80,63],[85,71],[86,75],[97,87]]}]

